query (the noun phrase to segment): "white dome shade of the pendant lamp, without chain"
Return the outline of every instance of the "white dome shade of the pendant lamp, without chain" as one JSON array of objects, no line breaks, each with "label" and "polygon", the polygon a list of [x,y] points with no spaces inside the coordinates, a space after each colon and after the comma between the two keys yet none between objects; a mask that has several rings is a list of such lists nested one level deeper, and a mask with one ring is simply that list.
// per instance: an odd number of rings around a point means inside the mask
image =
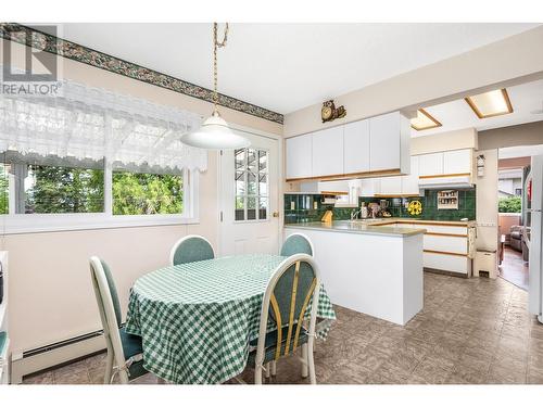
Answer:
[{"label": "white dome shade of the pendant lamp, without chain", "polygon": [[230,129],[218,112],[213,112],[197,131],[184,135],[181,142],[206,150],[235,150],[251,145],[248,139]]}]

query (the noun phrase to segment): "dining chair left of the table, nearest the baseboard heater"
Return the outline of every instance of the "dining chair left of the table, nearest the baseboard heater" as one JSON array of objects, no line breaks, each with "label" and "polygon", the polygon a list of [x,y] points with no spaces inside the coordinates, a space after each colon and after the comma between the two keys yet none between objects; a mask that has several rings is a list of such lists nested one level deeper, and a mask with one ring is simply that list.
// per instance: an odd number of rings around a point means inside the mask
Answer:
[{"label": "dining chair left of the table, nearest the baseboard heater", "polygon": [[105,262],[97,256],[90,257],[90,276],[108,347],[104,384],[110,384],[115,374],[118,374],[122,384],[127,384],[147,373],[141,338],[127,333],[121,327],[117,290]]}]

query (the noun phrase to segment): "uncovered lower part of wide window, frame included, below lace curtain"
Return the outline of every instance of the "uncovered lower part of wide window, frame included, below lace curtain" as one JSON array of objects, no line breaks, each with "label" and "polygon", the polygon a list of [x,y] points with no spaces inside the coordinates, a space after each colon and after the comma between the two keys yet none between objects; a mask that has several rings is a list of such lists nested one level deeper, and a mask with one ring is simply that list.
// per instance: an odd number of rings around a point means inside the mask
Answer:
[{"label": "uncovered lower part of wide window, frame included, below lace curtain", "polygon": [[7,232],[199,221],[198,171],[12,151],[0,155]]}]

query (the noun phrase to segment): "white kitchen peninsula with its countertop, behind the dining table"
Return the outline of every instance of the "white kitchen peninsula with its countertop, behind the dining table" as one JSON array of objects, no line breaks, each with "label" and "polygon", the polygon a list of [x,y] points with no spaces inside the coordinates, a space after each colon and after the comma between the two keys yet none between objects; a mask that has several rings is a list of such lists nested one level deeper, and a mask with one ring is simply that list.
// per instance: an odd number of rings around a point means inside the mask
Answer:
[{"label": "white kitchen peninsula with its countertop, behind the dining table", "polygon": [[285,237],[307,236],[332,301],[405,325],[422,309],[425,229],[337,220],[285,225]]}]

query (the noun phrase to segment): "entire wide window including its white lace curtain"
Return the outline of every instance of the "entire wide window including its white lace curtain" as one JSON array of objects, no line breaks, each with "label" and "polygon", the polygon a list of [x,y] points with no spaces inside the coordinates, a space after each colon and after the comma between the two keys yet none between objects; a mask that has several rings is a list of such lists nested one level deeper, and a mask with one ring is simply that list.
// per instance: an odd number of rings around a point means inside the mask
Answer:
[{"label": "entire wide window including its white lace curtain", "polygon": [[0,98],[5,233],[199,221],[207,152],[180,141],[199,115],[74,81],[62,90]]}]

